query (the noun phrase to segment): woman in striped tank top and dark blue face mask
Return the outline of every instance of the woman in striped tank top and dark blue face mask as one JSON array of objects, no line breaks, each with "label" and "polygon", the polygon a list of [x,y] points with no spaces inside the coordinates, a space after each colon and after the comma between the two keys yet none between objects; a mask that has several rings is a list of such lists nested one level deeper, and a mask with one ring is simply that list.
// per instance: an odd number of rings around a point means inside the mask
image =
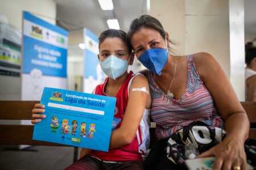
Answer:
[{"label": "woman in striped tank top and dark blue face mask", "polygon": [[226,130],[222,142],[197,158],[216,156],[213,169],[247,169],[243,145],[249,134],[249,120],[216,59],[204,52],[170,54],[168,33],[150,15],[131,22],[127,39],[148,69],[144,74],[150,86],[151,118],[156,122],[159,140],[148,154],[145,169],[180,169],[167,159],[167,141],[175,131],[194,121]]}]

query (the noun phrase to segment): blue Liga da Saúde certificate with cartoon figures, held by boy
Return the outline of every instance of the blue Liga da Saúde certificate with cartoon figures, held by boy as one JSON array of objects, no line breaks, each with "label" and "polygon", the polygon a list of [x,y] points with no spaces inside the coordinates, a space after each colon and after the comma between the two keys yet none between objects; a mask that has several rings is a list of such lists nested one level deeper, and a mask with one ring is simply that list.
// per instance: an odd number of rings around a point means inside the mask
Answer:
[{"label": "blue Liga da Sa\u00fade certificate with cartoon figures, held by boy", "polygon": [[115,97],[45,87],[40,101],[46,118],[33,139],[108,151]]}]

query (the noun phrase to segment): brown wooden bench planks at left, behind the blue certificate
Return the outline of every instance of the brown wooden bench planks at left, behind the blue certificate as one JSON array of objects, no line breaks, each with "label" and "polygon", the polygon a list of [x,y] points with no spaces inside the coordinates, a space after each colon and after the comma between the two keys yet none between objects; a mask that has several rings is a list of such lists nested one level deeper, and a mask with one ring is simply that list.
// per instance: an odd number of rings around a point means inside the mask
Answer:
[{"label": "brown wooden bench planks at left, behind the blue certificate", "polygon": [[[32,109],[39,101],[0,101],[0,121],[32,120]],[[68,146],[32,139],[34,125],[0,125],[0,145]],[[68,146],[71,147],[71,146]],[[78,148],[74,147],[73,162],[77,160]]]}]

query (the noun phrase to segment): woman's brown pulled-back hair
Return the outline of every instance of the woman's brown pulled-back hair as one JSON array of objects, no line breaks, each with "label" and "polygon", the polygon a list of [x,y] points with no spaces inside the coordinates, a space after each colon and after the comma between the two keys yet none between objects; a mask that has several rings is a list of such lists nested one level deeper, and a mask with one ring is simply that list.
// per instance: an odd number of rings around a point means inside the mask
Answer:
[{"label": "woman's brown pulled-back hair", "polygon": [[[130,29],[127,33],[127,40],[130,41],[134,33],[138,32],[141,28],[152,28],[160,33],[163,39],[166,39],[166,31],[164,31],[163,25],[159,22],[158,19],[150,15],[141,15],[139,18],[134,19],[130,24]],[[169,40],[173,45],[176,45],[176,42]],[[174,52],[174,49],[170,48],[171,52]]]}]

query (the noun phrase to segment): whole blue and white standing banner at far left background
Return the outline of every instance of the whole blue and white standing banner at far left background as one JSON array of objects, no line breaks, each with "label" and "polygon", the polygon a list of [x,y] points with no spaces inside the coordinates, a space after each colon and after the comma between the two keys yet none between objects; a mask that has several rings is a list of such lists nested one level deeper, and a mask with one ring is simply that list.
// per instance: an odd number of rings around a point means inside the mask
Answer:
[{"label": "whole blue and white standing banner at far left background", "polygon": [[67,89],[68,31],[23,11],[22,100],[44,87]]}]

